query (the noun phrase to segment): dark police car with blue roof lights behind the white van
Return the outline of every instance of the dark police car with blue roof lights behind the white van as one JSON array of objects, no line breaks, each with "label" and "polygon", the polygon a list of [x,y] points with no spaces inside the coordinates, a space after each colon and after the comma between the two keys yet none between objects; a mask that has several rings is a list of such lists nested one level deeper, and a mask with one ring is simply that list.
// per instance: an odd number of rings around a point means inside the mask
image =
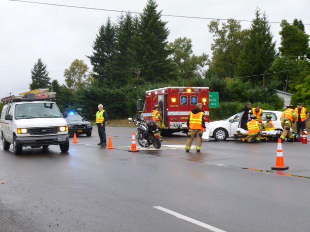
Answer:
[{"label": "dark police car with blue roof lights behind the white van", "polygon": [[68,115],[68,117],[65,117],[64,119],[68,124],[68,134],[70,136],[73,136],[74,133],[76,135],[91,136],[92,124],[86,121],[87,118],[80,116],[76,112],[63,112],[62,114]]}]

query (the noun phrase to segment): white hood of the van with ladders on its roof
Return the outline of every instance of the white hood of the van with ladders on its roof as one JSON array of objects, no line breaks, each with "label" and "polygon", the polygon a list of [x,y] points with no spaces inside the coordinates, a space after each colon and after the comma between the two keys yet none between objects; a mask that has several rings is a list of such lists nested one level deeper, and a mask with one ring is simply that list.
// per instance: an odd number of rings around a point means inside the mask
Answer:
[{"label": "white hood of the van with ladders on its roof", "polygon": [[67,123],[63,118],[28,118],[18,119],[16,123],[19,127],[55,127],[66,126]]}]

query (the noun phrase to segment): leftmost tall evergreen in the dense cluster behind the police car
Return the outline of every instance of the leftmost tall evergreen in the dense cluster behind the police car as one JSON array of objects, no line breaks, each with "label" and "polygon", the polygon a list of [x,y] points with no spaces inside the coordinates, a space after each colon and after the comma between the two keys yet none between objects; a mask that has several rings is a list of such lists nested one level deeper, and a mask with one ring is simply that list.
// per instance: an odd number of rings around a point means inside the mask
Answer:
[{"label": "leftmost tall evergreen in the dense cluster behind the police car", "polygon": [[96,39],[93,42],[93,52],[90,63],[93,68],[93,78],[102,86],[110,86],[113,81],[112,60],[115,51],[115,27],[108,17],[105,25],[102,24]]}]

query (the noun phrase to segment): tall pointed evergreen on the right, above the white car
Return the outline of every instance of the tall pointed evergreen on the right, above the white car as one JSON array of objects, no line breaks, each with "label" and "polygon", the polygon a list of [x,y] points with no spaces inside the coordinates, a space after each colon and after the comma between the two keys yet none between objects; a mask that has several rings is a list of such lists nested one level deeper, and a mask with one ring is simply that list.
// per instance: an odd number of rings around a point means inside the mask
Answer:
[{"label": "tall pointed evergreen on the right, above the white car", "polygon": [[[275,42],[272,42],[272,34],[265,13],[255,11],[255,18],[251,23],[249,36],[244,42],[240,52],[237,76],[258,75],[268,72],[275,56]],[[263,75],[250,77],[254,84],[262,84]]]}]

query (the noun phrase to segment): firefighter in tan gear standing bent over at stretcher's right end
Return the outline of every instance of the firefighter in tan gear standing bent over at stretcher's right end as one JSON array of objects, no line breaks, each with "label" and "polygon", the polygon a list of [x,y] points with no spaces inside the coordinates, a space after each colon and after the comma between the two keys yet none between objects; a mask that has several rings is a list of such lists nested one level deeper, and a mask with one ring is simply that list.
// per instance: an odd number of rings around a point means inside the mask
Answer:
[{"label": "firefighter in tan gear standing bent over at stretcher's right end", "polygon": [[291,142],[293,141],[293,135],[290,132],[291,124],[294,123],[297,119],[297,114],[293,110],[292,105],[287,105],[286,110],[283,111],[281,115],[281,126],[283,127],[283,132],[280,136],[281,140],[284,141],[284,139],[287,137]]}]

